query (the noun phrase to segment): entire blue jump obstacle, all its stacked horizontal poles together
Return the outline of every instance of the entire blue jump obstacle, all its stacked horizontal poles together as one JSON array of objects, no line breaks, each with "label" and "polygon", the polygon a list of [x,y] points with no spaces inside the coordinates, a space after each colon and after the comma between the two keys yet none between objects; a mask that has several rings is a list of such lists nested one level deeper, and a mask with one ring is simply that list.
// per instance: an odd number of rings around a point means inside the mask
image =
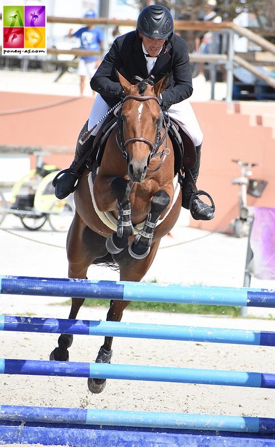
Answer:
[{"label": "entire blue jump obstacle, all its stacked horizontal poles together", "polygon": [[[2,276],[0,290],[2,294],[18,295],[108,297],[109,299],[112,296],[112,299],[120,300],[275,307],[275,292],[264,289],[198,288],[122,281]],[[4,315],[0,315],[1,330],[262,346],[275,344],[275,334],[265,331],[229,331],[220,328]],[[119,364],[0,359],[0,373],[275,388],[275,374],[269,373]],[[271,418],[0,405],[1,445],[18,442],[74,447],[155,447],[156,445],[158,447],[275,447],[274,438],[275,420]]]}]

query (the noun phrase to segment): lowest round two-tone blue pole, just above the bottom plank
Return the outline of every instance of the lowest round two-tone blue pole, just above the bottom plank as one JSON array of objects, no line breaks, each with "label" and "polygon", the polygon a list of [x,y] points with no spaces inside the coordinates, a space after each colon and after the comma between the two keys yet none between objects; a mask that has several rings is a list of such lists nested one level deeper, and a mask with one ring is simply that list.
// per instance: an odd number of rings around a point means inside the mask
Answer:
[{"label": "lowest round two-tone blue pole, just above the bottom plank", "polygon": [[271,418],[17,405],[0,405],[0,421],[275,433]]}]

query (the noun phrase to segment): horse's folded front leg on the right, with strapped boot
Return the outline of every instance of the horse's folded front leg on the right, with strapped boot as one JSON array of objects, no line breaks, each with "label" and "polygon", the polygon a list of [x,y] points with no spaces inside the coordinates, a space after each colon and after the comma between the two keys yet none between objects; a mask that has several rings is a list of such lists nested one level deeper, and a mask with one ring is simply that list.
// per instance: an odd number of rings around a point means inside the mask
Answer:
[{"label": "horse's folded front leg on the right, with strapped boot", "polygon": [[148,256],[157,221],[169,203],[170,197],[164,189],[158,191],[153,196],[151,211],[148,214],[144,227],[129,245],[129,253],[133,258],[143,259]]}]

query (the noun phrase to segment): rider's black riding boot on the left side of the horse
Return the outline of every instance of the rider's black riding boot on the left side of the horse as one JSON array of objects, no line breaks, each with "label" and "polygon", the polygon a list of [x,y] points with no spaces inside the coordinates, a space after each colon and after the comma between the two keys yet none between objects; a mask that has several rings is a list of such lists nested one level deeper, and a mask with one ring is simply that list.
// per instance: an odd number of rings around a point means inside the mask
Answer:
[{"label": "rider's black riding boot on the left side of the horse", "polygon": [[[85,134],[87,134],[87,139],[85,140]],[[84,139],[85,141],[80,143],[80,140]],[[69,194],[73,193],[77,186],[78,181],[81,177],[82,172],[85,168],[86,158],[85,154],[92,148],[94,136],[88,133],[88,121],[85,122],[84,126],[81,129],[77,140],[75,158],[68,169],[64,169],[59,172],[58,175],[53,179],[53,186],[55,187],[55,195],[57,199],[65,199]],[[84,157],[83,163],[81,163],[81,158]],[[79,165],[79,166],[78,166]]]}]

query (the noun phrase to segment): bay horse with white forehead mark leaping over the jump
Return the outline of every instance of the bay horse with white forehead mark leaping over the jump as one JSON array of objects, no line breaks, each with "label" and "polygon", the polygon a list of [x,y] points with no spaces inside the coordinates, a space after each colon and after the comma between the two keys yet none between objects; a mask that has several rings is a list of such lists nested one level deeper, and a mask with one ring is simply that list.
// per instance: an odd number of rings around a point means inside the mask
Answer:
[{"label": "bay horse with white forehead mark leaping over the jump", "polygon": [[[117,126],[107,140],[92,187],[86,170],[75,192],[76,212],[66,244],[70,278],[85,279],[91,264],[112,259],[121,281],[141,281],[181,210],[174,151],[158,100],[167,77],[152,85],[147,80],[131,84],[117,75],[125,92]],[[113,216],[114,229],[101,220],[103,213]],[[120,321],[130,301],[110,299],[107,321]],[[72,298],[68,318],[77,317],[83,302]],[[105,337],[97,363],[110,363],[112,341],[113,337]],[[50,360],[67,361],[72,342],[73,335],[61,334]],[[88,379],[92,393],[100,393],[105,385],[104,378]]]}]

